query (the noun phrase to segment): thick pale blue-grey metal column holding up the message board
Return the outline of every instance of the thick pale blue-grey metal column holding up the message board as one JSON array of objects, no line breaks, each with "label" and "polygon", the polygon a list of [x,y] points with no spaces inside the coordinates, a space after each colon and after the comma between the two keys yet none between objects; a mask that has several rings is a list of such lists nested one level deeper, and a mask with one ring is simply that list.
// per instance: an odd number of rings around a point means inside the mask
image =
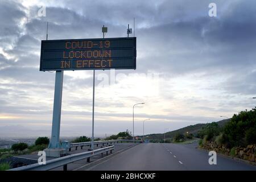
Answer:
[{"label": "thick pale blue-grey metal column holding up the message board", "polygon": [[52,117],[52,138],[48,148],[60,148],[60,116],[61,116],[61,101],[63,90],[63,73],[64,71],[56,71],[55,75],[55,91],[53,103]]}]

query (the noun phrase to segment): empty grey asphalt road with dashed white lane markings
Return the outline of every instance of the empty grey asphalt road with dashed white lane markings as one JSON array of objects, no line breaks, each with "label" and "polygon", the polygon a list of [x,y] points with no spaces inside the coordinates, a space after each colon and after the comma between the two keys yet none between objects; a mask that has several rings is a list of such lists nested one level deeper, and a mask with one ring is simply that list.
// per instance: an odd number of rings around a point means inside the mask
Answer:
[{"label": "empty grey asphalt road with dashed white lane markings", "polygon": [[208,152],[193,144],[143,143],[83,170],[256,170],[237,160],[217,155],[217,164],[208,163]]}]

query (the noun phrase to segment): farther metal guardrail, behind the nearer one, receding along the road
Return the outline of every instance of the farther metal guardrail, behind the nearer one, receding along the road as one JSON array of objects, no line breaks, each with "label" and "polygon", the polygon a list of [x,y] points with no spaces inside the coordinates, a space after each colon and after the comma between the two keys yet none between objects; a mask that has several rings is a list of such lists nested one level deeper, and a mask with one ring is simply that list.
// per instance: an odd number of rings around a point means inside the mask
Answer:
[{"label": "farther metal guardrail, behind the nearer one, receding along the road", "polygon": [[[104,144],[114,144],[114,143],[118,143],[118,142],[141,142],[141,140],[129,140],[129,139],[117,139],[117,140],[105,140],[105,141],[96,141],[94,142],[94,145],[98,145],[101,144],[102,146],[104,146]],[[84,147],[84,146],[91,146],[92,142],[80,142],[80,143],[71,143],[67,146],[67,148],[69,149],[69,151],[71,151],[71,148],[76,147]]]}]

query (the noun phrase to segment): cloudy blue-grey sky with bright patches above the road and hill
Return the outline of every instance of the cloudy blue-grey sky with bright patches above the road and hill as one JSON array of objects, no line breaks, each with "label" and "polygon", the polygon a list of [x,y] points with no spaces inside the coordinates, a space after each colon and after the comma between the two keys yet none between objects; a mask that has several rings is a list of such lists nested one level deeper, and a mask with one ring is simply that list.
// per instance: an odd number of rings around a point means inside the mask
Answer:
[{"label": "cloudy blue-grey sky with bright patches above the road and hill", "polygon": [[[208,15],[209,3],[217,17]],[[40,7],[46,16],[39,16]],[[95,135],[163,133],[219,121],[256,100],[256,2],[0,1],[0,137],[51,135],[55,72],[40,72],[46,39],[137,36],[137,69],[96,71]],[[61,136],[90,136],[93,71],[65,71]]]}]

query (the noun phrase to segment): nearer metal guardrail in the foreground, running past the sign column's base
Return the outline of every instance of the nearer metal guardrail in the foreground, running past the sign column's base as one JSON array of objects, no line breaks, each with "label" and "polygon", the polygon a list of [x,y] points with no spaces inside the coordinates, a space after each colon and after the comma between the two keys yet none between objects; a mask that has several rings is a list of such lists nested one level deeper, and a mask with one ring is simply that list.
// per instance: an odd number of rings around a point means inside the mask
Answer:
[{"label": "nearer metal guardrail in the foreground, running past the sign column's base", "polygon": [[47,160],[46,164],[36,163],[28,166],[9,169],[8,171],[47,171],[49,169],[54,169],[60,166],[63,166],[63,170],[67,171],[67,165],[69,163],[73,163],[73,162],[76,162],[77,160],[82,160],[85,158],[87,158],[87,161],[89,162],[88,159],[90,159],[90,157],[98,154],[103,154],[104,152],[106,152],[106,155],[108,155],[108,151],[112,153],[113,150],[114,150],[114,146],[109,146],[109,147],[99,148],[99,149],[88,151],[88,152],[82,152],[79,154],[72,154],[72,155],[64,156],[57,159]]}]

